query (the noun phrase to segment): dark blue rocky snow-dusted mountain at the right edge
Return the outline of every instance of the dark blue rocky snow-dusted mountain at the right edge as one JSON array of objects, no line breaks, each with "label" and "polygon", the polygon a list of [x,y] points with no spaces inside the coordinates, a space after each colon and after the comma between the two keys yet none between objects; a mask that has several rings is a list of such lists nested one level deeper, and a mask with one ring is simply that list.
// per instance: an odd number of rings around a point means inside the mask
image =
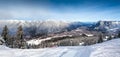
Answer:
[{"label": "dark blue rocky snow-dusted mountain at the right edge", "polygon": [[94,26],[94,29],[100,31],[112,31],[116,32],[120,29],[120,21],[98,21]]}]

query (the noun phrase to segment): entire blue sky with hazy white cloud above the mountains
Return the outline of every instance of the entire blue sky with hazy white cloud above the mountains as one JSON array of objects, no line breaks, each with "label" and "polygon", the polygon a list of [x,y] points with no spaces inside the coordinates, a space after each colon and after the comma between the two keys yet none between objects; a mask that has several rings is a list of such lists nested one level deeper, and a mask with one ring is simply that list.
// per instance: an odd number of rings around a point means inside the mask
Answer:
[{"label": "entire blue sky with hazy white cloud above the mountains", "polygon": [[120,21],[120,0],[0,0],[0,19]]}]

